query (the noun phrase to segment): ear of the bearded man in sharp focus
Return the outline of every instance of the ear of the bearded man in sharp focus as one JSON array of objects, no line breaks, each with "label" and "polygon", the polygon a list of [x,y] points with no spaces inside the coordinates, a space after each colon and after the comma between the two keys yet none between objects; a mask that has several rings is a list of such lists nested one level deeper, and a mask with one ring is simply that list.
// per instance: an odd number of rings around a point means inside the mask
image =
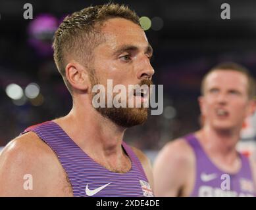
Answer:
[{"label": "ear of the bearded man in sharp focus", "polygon": [[66,79],[74,89],[86,91],[90,87],[88,70],[78,62],[70,62],[66,65]]}]

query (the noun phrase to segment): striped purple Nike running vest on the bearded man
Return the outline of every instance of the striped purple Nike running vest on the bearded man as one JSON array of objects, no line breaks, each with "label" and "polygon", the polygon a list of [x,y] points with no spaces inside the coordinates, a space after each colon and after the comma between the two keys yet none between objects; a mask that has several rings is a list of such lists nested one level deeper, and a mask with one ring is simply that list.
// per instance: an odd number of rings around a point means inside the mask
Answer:
[{"label": "striped purple Nike running vest on the bearded man", "polygon": [[55,152],[66,171],[73,196],[153,196],[140,160],[132,148],[122,142],[122,148],[132,162],[127,173],[115,173],[99,165],[53,122],[28,127],[22,134],[32,131]]}]

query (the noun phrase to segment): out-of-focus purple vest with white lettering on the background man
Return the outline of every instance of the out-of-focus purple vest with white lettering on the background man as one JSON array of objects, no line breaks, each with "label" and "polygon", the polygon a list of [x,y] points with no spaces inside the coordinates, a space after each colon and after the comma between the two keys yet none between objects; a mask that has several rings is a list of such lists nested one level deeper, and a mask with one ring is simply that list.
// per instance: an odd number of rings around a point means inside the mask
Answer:
[{"label": "out-of-focus purple vest with white lettering on the background man", "polygon": [[255,186],[249,159],[242,154],[242,167],[236,174],[228,174],[218,169],[205,154],[195,135],[185,137],[193,148],[196,158],[196,175],[192,197],[236,197],[255,196]]}]

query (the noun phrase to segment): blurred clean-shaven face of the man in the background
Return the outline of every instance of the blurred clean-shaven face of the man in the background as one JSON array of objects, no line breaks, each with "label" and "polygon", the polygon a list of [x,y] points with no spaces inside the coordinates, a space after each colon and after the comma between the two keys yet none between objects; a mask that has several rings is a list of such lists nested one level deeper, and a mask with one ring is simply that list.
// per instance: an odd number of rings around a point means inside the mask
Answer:
[{"label": "blurred clean-shaven face of the man in the background", "polygon": [[205,80],[204,96],[199,98],[204,125],[215,129],[240,129],[253,113],[247,77],[232,70],[217,70]]}]

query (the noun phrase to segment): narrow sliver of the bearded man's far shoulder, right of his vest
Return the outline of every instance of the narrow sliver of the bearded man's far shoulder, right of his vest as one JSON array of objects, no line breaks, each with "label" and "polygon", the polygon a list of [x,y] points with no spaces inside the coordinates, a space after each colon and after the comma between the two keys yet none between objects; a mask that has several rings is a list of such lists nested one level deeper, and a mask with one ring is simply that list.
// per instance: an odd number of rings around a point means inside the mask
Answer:
[{"label": "narrow sliver of the bearded man's far shoulder, right of his vest", "polygon": [[136,154],[136,156],[140,159],[141,165],[147,176],[147,180],[149,180],[149,184],[151,185],[151,188],[153,188],[153,174],[149,158],[147,158],[147,156],[138,148],[135,148],[134,146],[131,146],[131,148]]}]

